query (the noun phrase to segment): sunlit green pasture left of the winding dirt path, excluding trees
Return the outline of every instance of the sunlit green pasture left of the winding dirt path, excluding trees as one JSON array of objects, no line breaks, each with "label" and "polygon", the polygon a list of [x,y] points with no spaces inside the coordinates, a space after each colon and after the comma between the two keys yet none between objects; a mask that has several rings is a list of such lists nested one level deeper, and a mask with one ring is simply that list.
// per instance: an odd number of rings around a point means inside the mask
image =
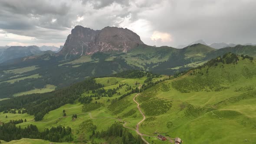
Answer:
[{"label": "sunlit green pasture left of the winding dirt path, excluding trees", "polygon": [[[162,78],[155,78],[154,80],[156,81],[157,79],[163,79]],[[125,78],[114,78],[114,77],[109,77],[109,78],[98,78],[96,79],[96,82],[102,83],[105,85],[106,90],[109,88],[116,88],[119,86],[119,84],[128,84],[131,85],[132,88],[136,88],[137,86],[135,85],[136,82],[143,83],[144,80],[147,79],[146,77],[139,78],[139,79],[125,79]],[[109,82],[108,82],[109,81]],[[125,90],[128,88],[128,86],[122,86],[119,88],[118,92],[122,94],[125,94]],[[84,95],[90,95],[91,93],[87,94],[85,93]],[[57,108],[53,111],[50,111],[49,114],[46,114],[43,118],[42,121],[34,121],[34,116],[33,115],[27,115],[27,114],[2,114],[0,115],[0,122],[8,122],[10,120],[16,120],[22,118],[23,120],[26,118],[27,122],[23,122],[21,124],[17,124],[17,126],[21,126],[22,128],[26,127],[28,124],[35,124],[38,128],[39,131],[43,131],[45,128],[51,128],[52,126],[69,126],[72,128],[72,134],[75,139],[78,139],[79,136],[82,134],[84,131],[81,129],[81,124],[82,122],[86,120],[92,120],[93,124],[97,126],[96,131],[102,131],[106,130],[111,124],[113,124],[115,121],[126,121],[126,126],[129,128],[135,129],[135,125],[140,121],[142,116],[139,114],[139,112],[136,110],[136,104],[134,102],[129,102],[128,105],[123,107],[124,104],[127,103],[127,101],[132,101],[132,98],[135,96],[135,94],[127,96],[126,98],[122,99],[122,103],[118,103],[116,105],[120,111],[113,111],[109,105],[111,105],[112,99],[120,97],[120,95],[113,95],[113,97],[103,97],[98,99],[97,101],[99,103],[102,103],[102,107],[97,108],[96,110],[93,111],[88,111],[88,112],[83,112],[82,111],[82,104],[80,104],[78,101],[76,101],[74,104],[67,104],[63,105],[60,108]],[[108,101],[108,98],[110,101]],[[95,99],[91,101],[91,103],[95,103]],[[66,111],[66,117],[63,117],[63,109]],[[133,109],[132,113],[128,113]],[[78,118],[72,120],[72,115],[78,115]],[[8,118],[5,118],[7,115]],[[133,132],[136,134],[135,132]],[[85,134],[85,138],[89,140],[89,135],[92,134],[92,131],[88,131]],[[102,140],[97,140],[98,142]]]}]

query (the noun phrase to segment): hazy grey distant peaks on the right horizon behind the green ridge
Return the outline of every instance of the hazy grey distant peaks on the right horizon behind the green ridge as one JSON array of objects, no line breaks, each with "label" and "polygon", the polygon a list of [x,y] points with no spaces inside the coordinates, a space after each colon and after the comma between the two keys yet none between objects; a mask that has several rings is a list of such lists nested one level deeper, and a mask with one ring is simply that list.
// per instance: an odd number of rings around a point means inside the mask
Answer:
[{"label": "hazy grey distant peaks on the right horizon behind the green ridge", "polygon": [[[193,43],[190,43],[190,44],[187,44],[187,45],[179,45],[176,48],[177,49],[182,49],[186,46],[190,46],[190,45],[193,45],[193,44],[196,44],[196,43],[201,43],[203,45],[210,46],[214,49],[222,49],[222,48],[226,48],[226,47],[234,47],[234,46],[240,45],[240,44],[234,44],[234,43],[212,43],[212,44],[209,45],[209,44],[205,43],[202,39],[200,39],[200,40],[197,40],[197,41],[195,41]],[[256,46],[256,45],[253,45],[252,43],[246,43],[246,44],[243,44],[243,45],[244,46],[248,46],[248,45],[249,46]]]}]

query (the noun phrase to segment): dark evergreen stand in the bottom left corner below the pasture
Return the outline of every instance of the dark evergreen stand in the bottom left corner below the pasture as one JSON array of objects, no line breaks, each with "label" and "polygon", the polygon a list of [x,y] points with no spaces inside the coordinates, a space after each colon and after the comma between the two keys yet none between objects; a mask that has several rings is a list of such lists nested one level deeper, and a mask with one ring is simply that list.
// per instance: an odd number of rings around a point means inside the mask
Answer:
[{"label": "dark evergreen stand in the bottom left corner below the pasture", "polygon": [[0,139],[4,141],[19,140],[21,138],[43,139],[53,142],[73,141],[71,128],[52,127],[39,132],[36,125],[30,124],[26,128],[16,127],[14,123],[3,123],[0,125]]}]

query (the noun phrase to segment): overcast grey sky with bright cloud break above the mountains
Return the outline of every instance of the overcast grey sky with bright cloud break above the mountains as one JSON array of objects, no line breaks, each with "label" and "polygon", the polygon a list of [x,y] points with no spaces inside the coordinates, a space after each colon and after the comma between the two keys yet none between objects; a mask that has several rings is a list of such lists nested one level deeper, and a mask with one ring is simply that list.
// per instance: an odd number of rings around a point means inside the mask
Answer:
[{"label": "overcast grey sky with bright cloud break above the mountains", "polygon": [[60,46],[76,25],[128,28],[148,45],[256,43],[256,0],[0,0],[0,46]]}]

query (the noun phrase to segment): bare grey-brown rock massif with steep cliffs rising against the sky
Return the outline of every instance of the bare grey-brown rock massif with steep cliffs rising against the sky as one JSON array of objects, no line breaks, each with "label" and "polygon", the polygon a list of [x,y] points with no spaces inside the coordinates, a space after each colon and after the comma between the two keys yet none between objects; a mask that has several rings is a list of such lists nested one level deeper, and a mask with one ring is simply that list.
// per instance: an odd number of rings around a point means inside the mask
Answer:
[{"label": "bare grey-brown rock massif with steep cliffs rising against the sky", "polygon": [[95,52],[127,52],[140,44],[144,44],[140,36],[129,29],[108,26],[102,30],[93,30],[75,26],[59,55],[82,56]]}]

